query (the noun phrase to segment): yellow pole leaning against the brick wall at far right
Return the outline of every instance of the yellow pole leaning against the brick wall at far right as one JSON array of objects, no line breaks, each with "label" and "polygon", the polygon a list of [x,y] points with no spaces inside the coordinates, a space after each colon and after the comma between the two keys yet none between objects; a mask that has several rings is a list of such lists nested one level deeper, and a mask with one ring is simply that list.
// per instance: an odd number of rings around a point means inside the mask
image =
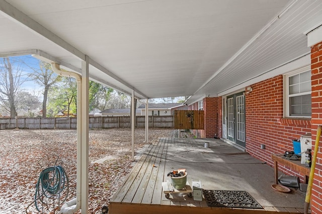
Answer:
[{"label": "yellow pole leaning against the brick wall at far right", "polygon": [[321,129],[322,126],[317,126],[316,131],[316,139],[315,139],[315,145],[314,145],[314,153],[312,156],[312,164],[311,164],[311,170],[310,170],[310,177],[308,178],[308,184],[307,184],[307,190],[306,190],[306,196],[305,196],[305,204],[304,204],[304,214],[307,214],[308,212],[308,205],[311,200],[311,193],[312,193],[312,183],[313,183],[313,177],[314,177],[314,170],[315,170],[315,162],[316,162],[316,156],[318,151],[318,142],[320,141],[320,135],[321,135]]}]

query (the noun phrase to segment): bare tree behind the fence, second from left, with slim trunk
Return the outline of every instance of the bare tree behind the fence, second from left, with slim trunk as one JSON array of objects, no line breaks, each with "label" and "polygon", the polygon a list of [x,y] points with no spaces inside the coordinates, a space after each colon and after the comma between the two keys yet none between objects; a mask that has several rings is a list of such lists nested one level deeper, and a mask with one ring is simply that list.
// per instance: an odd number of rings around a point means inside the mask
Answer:
[{"label": "bare tree behind the fence, second from left, with slim trunk", "polygon": [[30,67],[34,72],[29,74],[29,77],[40,86],[44,87],[43,101],[42,101],[42,117],[47,116],[47,99],[48,91],[52,85],[61,80],[61,76],[57,75],[51,70],[51,65],[43,61],[39,61],[39,69]]}]

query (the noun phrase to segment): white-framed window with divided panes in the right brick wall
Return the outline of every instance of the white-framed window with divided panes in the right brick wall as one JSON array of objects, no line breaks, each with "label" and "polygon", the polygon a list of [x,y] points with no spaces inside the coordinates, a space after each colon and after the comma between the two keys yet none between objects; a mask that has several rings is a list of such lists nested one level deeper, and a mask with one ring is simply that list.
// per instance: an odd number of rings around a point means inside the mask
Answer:
[{"label": "white-framed window with divided panes in the right brick wall", "polygon": [[291,73],[284,77],[284,116],[311,117],[311,71]]}]

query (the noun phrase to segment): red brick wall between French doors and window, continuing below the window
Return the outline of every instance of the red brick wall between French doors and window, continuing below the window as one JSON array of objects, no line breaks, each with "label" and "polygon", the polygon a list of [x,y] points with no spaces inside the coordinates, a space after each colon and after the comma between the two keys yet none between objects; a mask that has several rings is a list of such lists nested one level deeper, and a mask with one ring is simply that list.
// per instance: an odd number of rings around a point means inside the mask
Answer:
[{"label": "red brick wall between French doors and window, continuing below the window", "polygon": [[[293,139],[311,132],[310,120],[283,118],[283,76],[256,83],[246,95],[246,150],[252,156],[273,165],[272,153],[293,150]],[[261,149],[261,144],[266,149]],[[303,177],[279,166],[286,174]]]}]

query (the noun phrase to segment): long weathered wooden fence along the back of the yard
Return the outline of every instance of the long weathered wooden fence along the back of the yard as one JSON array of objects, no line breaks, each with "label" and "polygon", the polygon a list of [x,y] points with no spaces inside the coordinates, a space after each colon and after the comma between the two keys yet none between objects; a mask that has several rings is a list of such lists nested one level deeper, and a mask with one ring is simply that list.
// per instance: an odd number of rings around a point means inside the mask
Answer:
[{"label": "long weathered wooden fence along the back of the yard", "polygon": [[[90,128],[129,128],[130,116],[90,117]],[[76,129],[76,117],[0,118],[0,129]],[[136,127],[145,127],[145,116],[136,116]],[[149,127],[174,128],[173,116],[149,116]]]}]

